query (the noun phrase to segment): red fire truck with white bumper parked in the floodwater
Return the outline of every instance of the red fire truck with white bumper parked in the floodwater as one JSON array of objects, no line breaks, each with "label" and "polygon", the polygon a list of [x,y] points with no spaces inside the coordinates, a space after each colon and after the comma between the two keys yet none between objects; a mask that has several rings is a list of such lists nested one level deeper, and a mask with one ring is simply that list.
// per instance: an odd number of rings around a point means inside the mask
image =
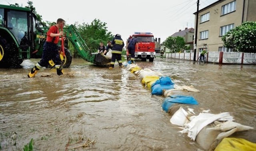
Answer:
[{"label": "red fire truck with white bumper parked in the floodwater", "polygon": [[135,58],[141,61],[154,61],[156,57],[154,35],[150,32],[134,32],[132,37],[137,36],[138,51],[135,49]]}]

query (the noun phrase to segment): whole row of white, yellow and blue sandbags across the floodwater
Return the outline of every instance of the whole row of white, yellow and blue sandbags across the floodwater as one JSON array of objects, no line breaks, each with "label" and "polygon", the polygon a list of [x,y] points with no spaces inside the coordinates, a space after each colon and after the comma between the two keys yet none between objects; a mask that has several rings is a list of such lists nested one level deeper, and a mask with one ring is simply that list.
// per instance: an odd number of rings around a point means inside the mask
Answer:
[{"label": "whole row of white, yellow and blue sandbags across the floodwater", "polygon": [[[186,133],[205,150],[241,149],[254,150],[256,143],[240,138],[227,138],[236,131],[246,131],[253,127],[234,122],[233,116],[228,112],[212,114],[210,110],[196,115],[193,109],[186,111],[182,104],[198,105],[192,96],[173,95],[176,90],[200,92],[191,86],[176,85],[170,77],[163,76],[160,72],[148,68],[142,69],[137,64],[125,64],[126,70],[139,76],[142,84],[151,90],[152,95],[164,96],[162,109],[172,115],[170,123],[183,127],[180,133]],[[228,144],[228,145],[227,145]]]}]

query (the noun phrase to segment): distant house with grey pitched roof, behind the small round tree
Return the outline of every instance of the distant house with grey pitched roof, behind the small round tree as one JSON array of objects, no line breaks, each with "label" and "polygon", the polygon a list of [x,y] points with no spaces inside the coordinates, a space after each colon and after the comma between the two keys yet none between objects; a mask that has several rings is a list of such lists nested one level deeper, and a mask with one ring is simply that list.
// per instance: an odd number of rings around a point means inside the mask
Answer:
[{"label": "distant house with grey pitched roof, behind the small round tree", "polygon": [[[185,30],[179,30],[178,32],[172,34],[172,37],[183,37],[186,44],[185,47],[190,48],[190,50],[193,49],[194,44],[194,28],[185,28]],[[163,44],[160,44],[160,50],[164,50],[165,52],[170,52],[170,49],[166,48]],[[185,49],[182,50],[182,52],[186,52]]]}]

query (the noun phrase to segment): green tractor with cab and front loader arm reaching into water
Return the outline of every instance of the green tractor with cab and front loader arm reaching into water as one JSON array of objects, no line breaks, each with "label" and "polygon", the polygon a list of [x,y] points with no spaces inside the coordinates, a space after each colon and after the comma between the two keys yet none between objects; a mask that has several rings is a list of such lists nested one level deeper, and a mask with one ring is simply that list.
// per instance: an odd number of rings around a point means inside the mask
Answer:
[{"label": "green tractor with cab and front loader arm reaching into water", "polygon": [[[0,5],[0,68],[17,67],[25,59],[41,58],[48,29],[44,24],[36,22],[36,15],[32,10]],[[67,49],[68,41],[84,60],[100,66],[110,62],[102,54],[91,53],[73,25],[63,31],[66,32],[64,68],[68,68],[72,62],[72,55]]]}]

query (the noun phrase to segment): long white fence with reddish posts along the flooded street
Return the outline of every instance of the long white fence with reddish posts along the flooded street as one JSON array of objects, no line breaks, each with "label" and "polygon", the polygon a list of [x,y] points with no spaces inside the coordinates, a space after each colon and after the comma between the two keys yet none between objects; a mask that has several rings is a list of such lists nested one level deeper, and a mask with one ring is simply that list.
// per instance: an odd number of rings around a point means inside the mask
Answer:
[{"label": "long white fence with reddish posts along the flooded street", "polygon": [[[156,56],[160,57],[160,53],[157,53]],[[199,56],[200,54],[196,53],[196,61],[198,61]],[[164,57],[194,60],[194,52],[164,53]],[[218,64],[256,64],[256,54],[244,52],[207,52],[206,62],[214,62]]]}]

